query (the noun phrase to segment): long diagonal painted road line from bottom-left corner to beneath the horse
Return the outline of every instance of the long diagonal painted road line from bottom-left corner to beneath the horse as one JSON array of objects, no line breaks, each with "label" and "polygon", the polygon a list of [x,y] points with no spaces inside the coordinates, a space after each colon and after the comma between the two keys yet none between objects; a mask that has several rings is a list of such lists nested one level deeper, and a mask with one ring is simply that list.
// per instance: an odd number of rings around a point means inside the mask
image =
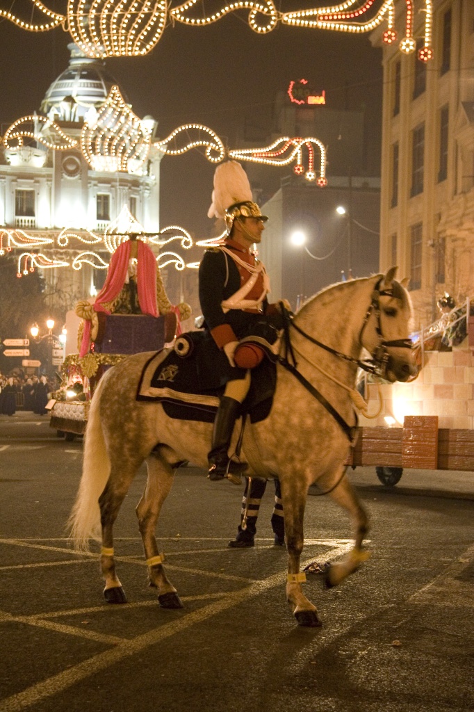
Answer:
[{"label": "long diagonal painted road line from bottom-left corner to beneath the horse", "polygon": [[[352,548],[352,542],[347,545],[336,546],[327,552],[327,557],[330,559],[335,558],[347,552],[350,548]],[[302,567],[305,567],[305,565],[311,562],[312,559],[302,562]],[[63,692],[82,680],[88,679],[99,671],[115,665],[164,639],[179,634],[193,625],[204,622],[206,619],[216,616],[226,609],[233,608],[277,585],[283,587],[284,583],[285,572],[278,572],[264,580],[253,582],[240,591],[233,591],[230,595],[225,595],[220,600],[189,613],[180,619],[165,623],[159,628],[152,629],[133,639],[124,640],[115,645],[112,649],[98,653],[78,665],[68,668],[57,675],[53,675],[36,685],[32,685],[16,695],[5,698],[0,702],[0,712],[20,712],[26,707],[38,704],[40,701],[59,692]],[[339,635],[339,632],[337,632],[337,635]],[[327,638],[325,642],[327,642]]]}]

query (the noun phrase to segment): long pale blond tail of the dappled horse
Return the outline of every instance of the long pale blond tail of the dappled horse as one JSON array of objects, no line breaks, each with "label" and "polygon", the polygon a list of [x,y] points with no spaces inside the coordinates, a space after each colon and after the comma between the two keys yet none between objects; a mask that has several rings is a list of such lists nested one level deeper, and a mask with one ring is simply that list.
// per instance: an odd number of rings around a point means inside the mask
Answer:
[{"label": "long pale blond tail of the dappled horse", "polygon": [[110,475],[110,460],[100,422],[100,396],[107,381],[102,377],[90,403],[84,436],[83,475],[68,520],[69,537],[80,551],[89,550],[89,540],[100,541],[99,497]]}]

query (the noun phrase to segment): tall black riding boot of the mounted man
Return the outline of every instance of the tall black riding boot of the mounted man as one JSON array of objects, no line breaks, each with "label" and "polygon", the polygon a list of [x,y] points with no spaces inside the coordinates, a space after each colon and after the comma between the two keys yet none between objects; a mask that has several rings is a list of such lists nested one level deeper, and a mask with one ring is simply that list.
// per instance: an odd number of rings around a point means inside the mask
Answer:
[{"label": "tall black riding boot of the mounted man", "polygon": [[209,479],[221,480],[228,475],[240,476],[247,468],[245,462],[234,462],[228,456],[231,445],[233,426],[241,404],[234,398],[223,396],[218,407],[212,433],[212,449],[207,459],[209,461]]}]

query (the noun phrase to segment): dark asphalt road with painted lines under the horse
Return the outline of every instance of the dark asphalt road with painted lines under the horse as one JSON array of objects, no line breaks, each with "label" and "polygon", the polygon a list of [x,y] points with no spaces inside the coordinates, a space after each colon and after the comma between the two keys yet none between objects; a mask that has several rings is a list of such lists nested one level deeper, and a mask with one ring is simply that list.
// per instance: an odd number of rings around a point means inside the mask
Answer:
[{"label": "dark asphalt road with painted lines under the horse", "polygon": [[[129,603],[105,604],[97,555],[68,545],[82,444],[43,419],[0,417],[0,712],[447,712],[474,708],[474,487],[470,473],[349,476],[372,518],[372,559],[341,587],[312,575],[324,623],[297,627],[286,554],[273,547],[273,487],[257,545],[227,547],[242,489],[181,468],[159,523],[185,608],[147,587],[135,505],[115,526]],[[310,496],[303,560],[347,549],[349,523]],[[97,550],[97,549],[95,549]]]}]

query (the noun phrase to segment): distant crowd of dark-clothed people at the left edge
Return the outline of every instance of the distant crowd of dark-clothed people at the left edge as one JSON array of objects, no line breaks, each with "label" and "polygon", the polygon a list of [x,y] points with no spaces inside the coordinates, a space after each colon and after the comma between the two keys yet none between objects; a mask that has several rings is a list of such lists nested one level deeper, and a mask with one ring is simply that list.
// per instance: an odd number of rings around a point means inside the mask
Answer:
[{"label": "distant crowd of dark-clothed people at the left edge", "polygon": [[0,415],[14,415],[17,409],[44,415],[55,384],[46,376],[0,373]]}]

